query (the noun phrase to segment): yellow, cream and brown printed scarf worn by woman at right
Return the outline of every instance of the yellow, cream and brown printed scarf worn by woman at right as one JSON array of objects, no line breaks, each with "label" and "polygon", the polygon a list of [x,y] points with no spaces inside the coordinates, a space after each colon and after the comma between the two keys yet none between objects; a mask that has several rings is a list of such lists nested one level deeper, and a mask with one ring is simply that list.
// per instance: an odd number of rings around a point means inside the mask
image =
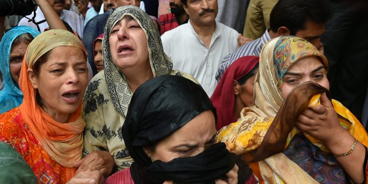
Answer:
[{"label": "yellow, cream and brown printed scarf worn by woman at right", "polygon": [[[225,142],[231,152],[250,162],[249,165],[260,183],[318,183],[317,179],[283,153],[299,133],[294,126],[298,116],[309,105],[318,104],[318,94],[328,93],[322,86],[307,82],[296,86],[285,101],[282,99],[283,74],[293,63],[306,56],[317,56],[328,67],[327,59],[312,44],[301,38],[285,36],[269,41],[261,52],[254,106],[244,108],[241,120],[217,133],[218,142]],[[341,125],[367,147],[368,135],[364,127],[341,103],[332,100],[332,104]],[[306,133],[304,137],[317,146],[320,152],[332,156],[314,137]]]}]

